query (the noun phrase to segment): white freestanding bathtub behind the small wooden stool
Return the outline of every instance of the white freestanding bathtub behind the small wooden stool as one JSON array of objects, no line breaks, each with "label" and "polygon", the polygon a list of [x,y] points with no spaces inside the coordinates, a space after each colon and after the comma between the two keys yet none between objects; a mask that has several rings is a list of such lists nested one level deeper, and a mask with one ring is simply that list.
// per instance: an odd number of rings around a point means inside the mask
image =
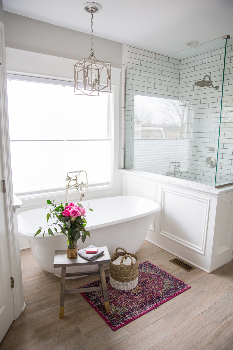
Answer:
[{"label": "white freestanding bathtub behind the small wooden stool", "polygon": [[[146,233],[155,214],[161,209],[158,203],[135,196],[118,196],[83,201],[82,205],[93,211],[87,210],[86,229],[90,231],[90,237],[86,237],[84,243],[78,240],[78,249],[86,248],[90,244],[97,247],[107,246],[110,255],[116,247],[123,247],[130,253],[136,253],[146,237]],[[19,232],[26,236],[34,258],[45,271],[61,275],[61,268],[53,267],[55,250],[66,249],[66,236],[52,229],[53,236],[49,236],[45,230],[34,237],[39,227],[46,226],[48,208],[39,208],[24,211],[18,215]],[[48,224],[56,222],[50,219]],[[89,269],[88,269],[89,267]],[[107,267],[107,265],[106,265]],[[68,272],[93,271],[97,265],[79,266],[67,268]]]}]

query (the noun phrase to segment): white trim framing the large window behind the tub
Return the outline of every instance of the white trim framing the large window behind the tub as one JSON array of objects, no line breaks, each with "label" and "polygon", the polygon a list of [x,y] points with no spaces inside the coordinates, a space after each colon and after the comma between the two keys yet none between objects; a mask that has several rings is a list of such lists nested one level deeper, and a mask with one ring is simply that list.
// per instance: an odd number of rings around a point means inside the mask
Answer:
[{"label": "white trim framing the large window behind the tub", "polygon": [[[73,65],[77,63],[82,57],[77,59],[70,59],[52,55],[41,54],[38,52],[20,50],[6,47],[7,58],[7,73],[14,75],[23,75],[28,77],[54,79],[70,82],[73,84]],[[90,187],[88,189],[88,200],[95,198],[111,197],[121,195],[121,181],[118,172],[119,159],[119,116],[120,110],[120,74],[122,69],[112,67],[112,93],[108,93],[109,103],[109,134],[111,138],[111,173],[110,184],[108,186]],[[98,98],[90,97],[87,98]],[[65,182],[64,182],[65,187]],[[76,197],[75,196],[76,193]],[[77,199],[78,193],[72,191],[69,195],[71,200]],[[20,196],[23,202],[21,208],[17,211],[22,212],[35,208],[42,208],[46,206],[46,200],[49,197],[57,198],[57,201],[64,202],[65,188],[63,191],[51,191],[40,194]]]}]

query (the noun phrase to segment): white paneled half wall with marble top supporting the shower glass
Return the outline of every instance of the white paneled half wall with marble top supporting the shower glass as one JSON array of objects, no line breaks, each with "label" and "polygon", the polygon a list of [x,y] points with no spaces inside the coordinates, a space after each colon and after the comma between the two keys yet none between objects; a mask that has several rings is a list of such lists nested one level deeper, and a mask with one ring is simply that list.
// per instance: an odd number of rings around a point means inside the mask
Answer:
[{"label": "white paneled half wall with marble top supporting the shower glass", "polygon": [[214,188],[181,179],[120,169],[122,193],[161,206],[146,239],[212,272],[233,258],[233,186]]}]

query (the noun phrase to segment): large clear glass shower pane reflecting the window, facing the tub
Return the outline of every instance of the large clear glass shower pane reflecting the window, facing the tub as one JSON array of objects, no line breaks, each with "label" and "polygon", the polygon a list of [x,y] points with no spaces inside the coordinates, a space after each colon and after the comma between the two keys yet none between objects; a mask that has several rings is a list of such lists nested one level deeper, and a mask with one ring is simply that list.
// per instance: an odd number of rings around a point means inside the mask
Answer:
[{"label": "large clear glass shower pane reflecting the window, facing the tub", "polygon": [[224,52],[220,38],[126,70],[126,168],[215,185]]}]

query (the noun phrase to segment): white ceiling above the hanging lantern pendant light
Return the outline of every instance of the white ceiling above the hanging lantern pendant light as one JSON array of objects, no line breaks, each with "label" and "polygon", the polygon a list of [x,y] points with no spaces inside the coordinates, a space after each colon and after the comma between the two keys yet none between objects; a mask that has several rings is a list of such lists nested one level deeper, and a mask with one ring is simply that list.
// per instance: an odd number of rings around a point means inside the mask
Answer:
[{"label": "white ceiling above the hanging lantern pendant light", "polygon": [[[3,0],[3,9],[57,26],[90,33],[85,0]],[[172,54],[186,42],[233,36],[233,0],[97,0],[93,34]]]}]

